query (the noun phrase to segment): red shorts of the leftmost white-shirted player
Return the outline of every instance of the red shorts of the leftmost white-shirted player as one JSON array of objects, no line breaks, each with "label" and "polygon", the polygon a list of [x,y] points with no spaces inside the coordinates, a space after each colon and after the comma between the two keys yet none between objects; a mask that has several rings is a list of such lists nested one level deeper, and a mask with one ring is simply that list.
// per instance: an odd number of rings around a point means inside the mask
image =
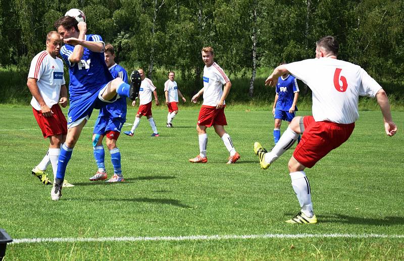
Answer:
[{"label": "red shorts of the leftmost white-shirted player", "polygon": [[45,117],[42,115],[42,111],[37,111],[32,108],[34,117],[40,129],[42,130],[43,138],[48,138],[55,135],[67,134],[67,121],[62,112],[59,104],[55,104],[51,107],[53,112],[51,117]]}]

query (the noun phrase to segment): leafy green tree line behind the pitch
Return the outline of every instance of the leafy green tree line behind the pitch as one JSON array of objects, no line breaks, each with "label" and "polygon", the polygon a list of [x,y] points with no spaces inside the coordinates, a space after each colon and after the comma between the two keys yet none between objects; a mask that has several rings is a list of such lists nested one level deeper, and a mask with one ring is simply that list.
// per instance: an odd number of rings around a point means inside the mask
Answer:
[{"label": "leafy green tree line behind the pitch", "polygon": [[315,41],[334,35],[340,59],[403,81],[404,1],[393,0],[0,0],[0,66],[28,73],[46,32],[71,8],[126,67],[150,78],[175,69],[200,86],[200,49],[212,46],[226,72],[248,77],[252,97],[258,68],[313,58]]}]

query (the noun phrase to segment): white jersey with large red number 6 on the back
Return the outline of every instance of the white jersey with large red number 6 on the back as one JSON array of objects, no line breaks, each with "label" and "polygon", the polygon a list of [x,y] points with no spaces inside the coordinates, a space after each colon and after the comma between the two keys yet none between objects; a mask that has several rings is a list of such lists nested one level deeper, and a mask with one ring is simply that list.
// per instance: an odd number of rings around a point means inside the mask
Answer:
[{"label": "white jersey with large red number 6 on the back", "polygon": [[359,65],[333,58],[309,59],[285,67],[312,90],[316,121],[355,122],[359,96],[375,97],[382,89]]}]

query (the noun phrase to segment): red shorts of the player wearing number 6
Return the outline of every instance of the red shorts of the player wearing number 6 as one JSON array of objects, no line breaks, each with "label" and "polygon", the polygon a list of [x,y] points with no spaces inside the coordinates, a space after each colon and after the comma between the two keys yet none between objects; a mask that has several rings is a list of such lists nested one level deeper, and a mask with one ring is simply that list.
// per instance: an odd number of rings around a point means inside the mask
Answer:
[{"label": "red shorts of the player wearing number 6", "polygon": [[341,124],[303,118],[305,131],[293,152],[293,157],[305,167],[313,167],[331,150],[338,148],[354,131],[355,123]]}]

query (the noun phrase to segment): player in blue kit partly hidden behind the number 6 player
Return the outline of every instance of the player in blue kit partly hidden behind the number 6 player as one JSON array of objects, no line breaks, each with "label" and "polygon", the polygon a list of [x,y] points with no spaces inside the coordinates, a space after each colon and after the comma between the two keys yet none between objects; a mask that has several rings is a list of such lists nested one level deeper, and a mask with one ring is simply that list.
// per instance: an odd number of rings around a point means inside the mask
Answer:
[{"label": "player in blue kit partly hidden behind the number 6 player", "polygon": [[[281,63],[285,64],[285,63]],[[280,64],[280,65],[281,65]],[[278,84],[276,85],[276,95],[274,106],[272,108],[272,114],[275,119],[274,127],[274,142],[278,143],[281,137],[281,123],[282,120],[292,121],[294,118],[294,112],[297,111],[297,98],[299,97],[299,86],[297,85],[296,78],[290,74],[283,74],[278,78]],[[300,141],[300,136],[297,138],[297,142]]]}]

